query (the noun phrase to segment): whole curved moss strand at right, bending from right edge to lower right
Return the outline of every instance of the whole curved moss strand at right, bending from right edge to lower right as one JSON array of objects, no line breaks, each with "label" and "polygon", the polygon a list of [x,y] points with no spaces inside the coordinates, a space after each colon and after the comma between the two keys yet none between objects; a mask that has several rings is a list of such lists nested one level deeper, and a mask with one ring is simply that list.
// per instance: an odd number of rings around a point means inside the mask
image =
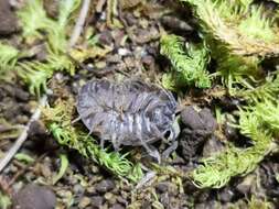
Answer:
[{"label": "whole curved moss strand at right, bending from right edge to lower right", "polygon": [[246,107],[239,111],[240,133],[251,140],[253,146],[238,148],[228,146],[224,152],[202,161],[192,173],[196,186],[221,188],[232,177],[253,172],[264,157],[273,148],[272,139],[278,134],[278,106],[269,101]]}]

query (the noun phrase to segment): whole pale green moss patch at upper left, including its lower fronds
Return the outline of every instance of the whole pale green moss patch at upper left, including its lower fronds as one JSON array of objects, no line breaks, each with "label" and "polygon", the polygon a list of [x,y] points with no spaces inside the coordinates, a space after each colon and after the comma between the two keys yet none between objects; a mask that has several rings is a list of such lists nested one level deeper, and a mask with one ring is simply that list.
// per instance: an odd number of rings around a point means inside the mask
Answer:
[{"label": "whole pale green moss patch at upper left, including its lower fronds", "polygon": [[[42,0],[28,1],[25,7],[18,12],[23,29],[23,36],[26,40],[43,38],[44,36],[47,40],[46,48],[49,55],[45,62],[31,61],[19,63],[17,66],[19,76],[29,86],[32,95],[40,96],[42,92],[45,92],[47,89],[46,82],[55,72],[66,70],[72,76],[75,74],[75,65],[66,55],[66,33],[71,14],[79,4],[81,0],[60,1],[57,21],[46,15]],[[4,50],[10,56],[10,58],[7,57],[8,55],[3,57],[6,62],[12,62],[15,65],[18,52],[7,48],[7,46]]]}]

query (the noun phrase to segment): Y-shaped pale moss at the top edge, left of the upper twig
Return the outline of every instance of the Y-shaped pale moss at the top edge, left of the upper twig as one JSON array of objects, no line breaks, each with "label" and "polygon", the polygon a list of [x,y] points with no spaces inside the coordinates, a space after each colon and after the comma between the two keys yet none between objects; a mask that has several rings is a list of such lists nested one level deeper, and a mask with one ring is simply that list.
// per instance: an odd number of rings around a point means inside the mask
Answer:
[{"label": "Y-shaped pale moss at the top edge, left of the upper twig", "polygon": [[71,14],[79,4],[81,0],[61,0],[58,18],[57,21],[54,21],[46,15],[42,0],[28,1],[26,6],[18,12],[23,36],[42,38],[42,32],[44,32],[51,52],[65,53],[67,47],[66,26],[69,23]]}]

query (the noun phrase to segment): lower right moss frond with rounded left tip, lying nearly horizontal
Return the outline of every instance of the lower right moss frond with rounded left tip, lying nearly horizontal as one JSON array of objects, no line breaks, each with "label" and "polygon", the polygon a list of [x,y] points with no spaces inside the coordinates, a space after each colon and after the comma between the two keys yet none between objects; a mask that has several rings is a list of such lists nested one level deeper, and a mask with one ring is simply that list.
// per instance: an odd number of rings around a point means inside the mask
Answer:
[{"label": "lower right moss frond with rounded left tip, lying nearly horizontal", "polygon": [[221,188],[225,186],[232,177],[246,175],[253,172],[265,156],[267,147],[250,147],[246,150],[234,146],[217,155],[202,161],[192,173],[194,184],[200,188]]}]

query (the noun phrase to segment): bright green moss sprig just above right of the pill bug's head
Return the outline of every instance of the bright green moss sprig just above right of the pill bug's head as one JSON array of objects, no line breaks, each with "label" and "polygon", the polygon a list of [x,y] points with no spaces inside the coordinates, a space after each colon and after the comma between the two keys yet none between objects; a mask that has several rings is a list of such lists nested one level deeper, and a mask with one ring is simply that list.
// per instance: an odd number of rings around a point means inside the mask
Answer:
[{"label": "bright green moss sprig just above right of the pill bug's head", "polygon": [[208,63],[206,47],[185,45],[183,38],[176,35],[162,35],[160,43],[160,53],[170,59],[174,69],[172,74],[174,86],[211,87],[210,75],[206,72]]}]

